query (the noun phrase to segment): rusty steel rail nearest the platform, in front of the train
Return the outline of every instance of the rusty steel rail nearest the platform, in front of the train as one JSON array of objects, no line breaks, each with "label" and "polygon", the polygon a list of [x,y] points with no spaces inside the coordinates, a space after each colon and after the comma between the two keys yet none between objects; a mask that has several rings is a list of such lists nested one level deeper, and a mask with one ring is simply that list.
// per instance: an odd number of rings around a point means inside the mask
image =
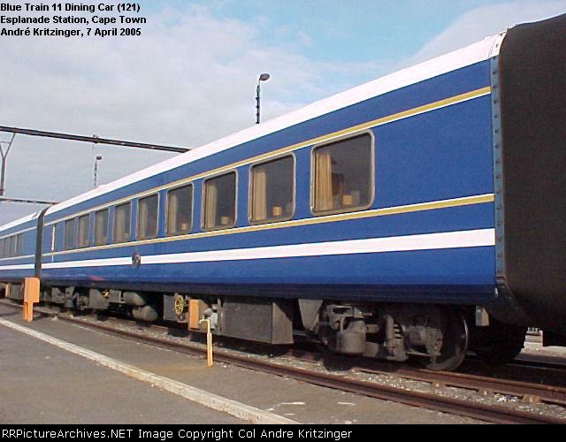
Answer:
[{"label": "rusty steel rail nearest the platform, in front of the train", "polygon": [[[19,305],[10,305],[5,302],[2,302],[1,304],[13,308],[21,308]],[[193,354],[200,357],[203,357],[203,354],[205,353],[203,347],[195,344],[179,343],[169,339],[144,336],[133,331],[120,330],[104,324],[91,323],[77,319],[76,317],[59,315],[55,312],[45,312],[44,310],[38,310],[38,312],[43,316],[57,316],[58,319],[69,323],[81,324],[114,336],[133,339],[137,342],[146,344],[149,343],[159,347],[165,347],[179,353]],[[335,390],[361,394],[379,400],[391,400],[413,407],[429,408],[451,415],[463,415],[491,423],[566,423],[566,420],[553,416],[537,415],[513,408],[487,405],[473,400],[459,400],[441,396],[439,394],[403,390],[389,385],[381,385],[374,382],[352,379],[340,375],[289,367],[279,363],[249,358],[249,356],[229,354],[221,349],[215,350],[215,360],[249,370],[263,371],[276,376],[292,377],[296,380],[313,385],[320,385]]]}]

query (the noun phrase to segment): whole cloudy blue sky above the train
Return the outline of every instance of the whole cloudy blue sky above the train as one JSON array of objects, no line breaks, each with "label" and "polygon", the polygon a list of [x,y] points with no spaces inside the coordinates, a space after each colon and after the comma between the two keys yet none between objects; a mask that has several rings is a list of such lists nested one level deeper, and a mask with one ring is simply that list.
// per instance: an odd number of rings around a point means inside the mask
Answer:
[{"label": "whole cloudy blue sky above the train", "polygon": [[[254,124],[261,72],[265,120],[566,12],[566,0],[139,3],[141,36],[0,36],[0,126],[198,148]],[[174,155],[18,135],[5,196],[63,201],[93,187],[96,156],[104,184]],[[2,202],[0,225],[40,209]]]}]

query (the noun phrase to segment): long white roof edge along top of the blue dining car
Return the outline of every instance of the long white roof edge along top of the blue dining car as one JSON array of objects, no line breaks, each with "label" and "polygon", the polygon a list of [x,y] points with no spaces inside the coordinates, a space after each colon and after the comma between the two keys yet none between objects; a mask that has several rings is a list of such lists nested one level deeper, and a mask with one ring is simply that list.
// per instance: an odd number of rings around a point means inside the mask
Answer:
[{"label": "long white roof edge along top of the blue dining car", "polygon": [[[112,181],[101,187],[97,187],[85,194],[77,195],[65,202],[60,202],[56,206],[50,207],[46,215],[65,210],[80,202],[88,201],[96,196],[107,194],[119,187],[125,187],[136,181],[147,179],[164,171],[172,170],[182,164],[188,164],[205,156],[210,156],[230,149],[241,143],[254,140],[256,138],[274,133],[294,126],[312,118],[317,118],[327,113],[339,110],[352,104],[363,102],[371,97],[384,95],[396,89],[404,88],[420,81],[429,80],[446,72],[452,72],[468,65],[484,61],[491,57],[496,57],[501,48],[506,31],[490,37],[486,37],[481,42],[471,44],[460,50],[455,50],[443,56],[432,58],[429,61],[414,65],[401,71],[388,74],[377,80],[371,80],[356,88],[348,89],[339,94],[311,103],[299,110],[293,110],[277,118],[265,121],[261,125],[251,126],[238,133],[233,133],[225,138],[212,141],[202,147],[190,150],[180,156],[174,156],[164,162],[152,165],[142,171],[134,172],[131,175]],[[17,223],[14,221],[13,225]],[[4,229],[4,227],[0,227]]]}]

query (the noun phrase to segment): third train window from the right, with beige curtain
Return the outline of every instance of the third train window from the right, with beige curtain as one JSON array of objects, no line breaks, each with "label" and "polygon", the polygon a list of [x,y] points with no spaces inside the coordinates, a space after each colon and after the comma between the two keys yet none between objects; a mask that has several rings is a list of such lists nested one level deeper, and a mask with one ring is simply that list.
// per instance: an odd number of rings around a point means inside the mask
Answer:
[{"label": "third train window from the right, with beige curtain", "polygon": [[204,228],[232,227],[236,220],[236,173],[204,181]]}]

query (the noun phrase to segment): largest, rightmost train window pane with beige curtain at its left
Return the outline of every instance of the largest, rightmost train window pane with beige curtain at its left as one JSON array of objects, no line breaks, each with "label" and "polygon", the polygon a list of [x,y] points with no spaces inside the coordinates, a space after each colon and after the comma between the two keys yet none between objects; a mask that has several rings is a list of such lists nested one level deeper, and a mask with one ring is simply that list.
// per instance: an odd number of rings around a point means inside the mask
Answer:
[{"label": "largest, rightmost train window pane with beige curtain at its left", "polygon": [[313,212],[361,209],[371,203],[372,139],[367,133],[313,150]]}]

